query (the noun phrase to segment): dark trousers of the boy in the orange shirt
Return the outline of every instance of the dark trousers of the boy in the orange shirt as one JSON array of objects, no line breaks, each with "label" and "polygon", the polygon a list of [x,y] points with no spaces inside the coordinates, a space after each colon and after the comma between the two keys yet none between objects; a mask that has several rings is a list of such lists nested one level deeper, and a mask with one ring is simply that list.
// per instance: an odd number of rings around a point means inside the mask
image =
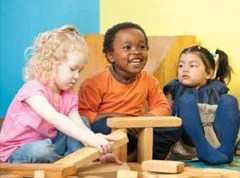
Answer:
[{"label": "dark trousers of the boy in the orange shirt", "polygon": [[[107,126],[108,117],[95,121],[91,128],[95,133],[110,134],[111,128]],[[153,159],[163,160],[171,147],[181,137],[182,127],[154,128],[153,129]],[[137,137],[128,132],[128,154],[137,149]]]}]

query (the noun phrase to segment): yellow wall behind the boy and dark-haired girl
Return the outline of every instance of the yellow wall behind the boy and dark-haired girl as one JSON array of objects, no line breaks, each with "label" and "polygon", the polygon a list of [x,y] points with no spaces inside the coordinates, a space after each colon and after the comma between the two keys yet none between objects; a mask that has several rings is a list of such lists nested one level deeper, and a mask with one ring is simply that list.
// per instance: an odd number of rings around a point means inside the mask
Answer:
[{"label": "yellow wall behind the boy and dark-haired girl", "polygon": [[234,74],[230,93],[240,102],[240,1],[239,0],[101,0],[100,32],[132,21],[148,35],[196,35],[210,51],[224,50]]}]

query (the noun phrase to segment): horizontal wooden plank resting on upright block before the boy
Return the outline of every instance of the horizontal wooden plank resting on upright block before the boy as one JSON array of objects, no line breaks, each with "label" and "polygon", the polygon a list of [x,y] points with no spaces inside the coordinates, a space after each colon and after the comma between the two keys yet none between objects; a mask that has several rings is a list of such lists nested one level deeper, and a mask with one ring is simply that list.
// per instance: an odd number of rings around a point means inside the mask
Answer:
[{"label": "horizontal wooden plank resting on upright block before the boy", "polygon": [[182,120],[174,116],[112,117],[107,125],[111,128],[178,127]]}]

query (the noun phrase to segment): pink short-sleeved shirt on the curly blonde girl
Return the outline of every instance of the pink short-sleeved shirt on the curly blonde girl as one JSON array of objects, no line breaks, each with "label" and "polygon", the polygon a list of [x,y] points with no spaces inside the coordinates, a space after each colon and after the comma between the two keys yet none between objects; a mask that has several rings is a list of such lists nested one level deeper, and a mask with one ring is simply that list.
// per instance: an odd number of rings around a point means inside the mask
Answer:
[{"label": "pink short-sleeved shirt on the curly blonde girl", "polygon": [[37,80],[25,83],[8,108],[2,126],[0,133],[0,162],[5,162],[22,144],[46,138],[55,138],[57,133],[55,127],[39,117],[24,102],[29,97],[36,95],[44,96],[56,111],[64,115],[78,110],[77,95],[69,91],[63,91],[59,102],[55,103],[47,85],[43,85]]}]

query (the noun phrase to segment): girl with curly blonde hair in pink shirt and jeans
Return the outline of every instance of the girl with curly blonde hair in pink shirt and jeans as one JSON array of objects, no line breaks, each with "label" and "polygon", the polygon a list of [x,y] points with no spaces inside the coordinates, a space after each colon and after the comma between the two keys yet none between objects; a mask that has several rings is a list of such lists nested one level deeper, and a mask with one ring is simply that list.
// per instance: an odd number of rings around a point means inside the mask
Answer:
[{"label": "girl with curly blonde hair in pink shirt and jeans", "polygon": [[13,99],[0,133],[0,162],[50,163],[80,149],[111,151],[109,136],[94,134],[78,113],[73,89],[88,48],[71,25],[37,36],[26,50],[25,84]]}]

